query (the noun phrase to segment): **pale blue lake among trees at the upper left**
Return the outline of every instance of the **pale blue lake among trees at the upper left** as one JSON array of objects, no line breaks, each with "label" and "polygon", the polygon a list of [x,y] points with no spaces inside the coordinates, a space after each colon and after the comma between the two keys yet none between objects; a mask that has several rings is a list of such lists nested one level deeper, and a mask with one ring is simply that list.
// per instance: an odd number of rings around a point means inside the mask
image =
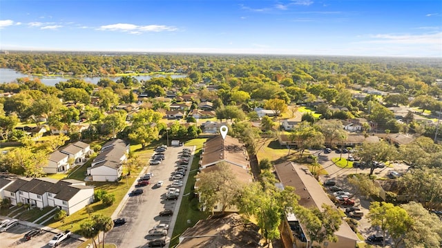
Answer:
[{"label": "pale blue lake among trees at the upper left", "polygon": [[[162,74],[156,74],[156,75],[137,75],[133,76],[138,81],[144,80],[147,81],[151,79],[152,77],[166,77],[171,76],[172,78],[180,78],[180,77],[187,77],[187,75],[184,74],[173,74],[173,75],[162,75]],[[34,76],[34,75],[26,75],[20,72],[17,72],[17,70],[7,69],[7,68],[0,68],[0,83],[10,83],[15,82],[15,79],[20,77],[29,77],[34,78],[38,77],[41,81],[41,83],[46,84],[47,86],[55,86],[55,84],[59,82],[65,82],[68,81],[68,79],[71,78],[80,78],[80,77],[60,77],[60,76],[53,76],[53,77],[40,77],[40,76]],[[117,79],[120,79],[121,77],[108,77],[112,79],[113,81],[117,81]],[[99,79],[102,79],[102,77],[81,77],[86,82],[90,82],[92,84],[97,84],[99,82]]]}]

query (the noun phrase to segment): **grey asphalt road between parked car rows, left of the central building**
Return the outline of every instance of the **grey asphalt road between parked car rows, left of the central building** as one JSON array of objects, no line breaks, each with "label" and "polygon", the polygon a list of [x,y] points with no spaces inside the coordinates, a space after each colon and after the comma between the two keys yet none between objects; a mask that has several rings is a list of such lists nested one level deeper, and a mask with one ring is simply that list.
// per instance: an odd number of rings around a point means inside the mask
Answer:
[{"label": "grey asphalt road between parked car rows, left of the central building", "polygon": [[[170,224],[172,216],[161,217],[158,215],[160,211],[173,209],[174,215],[177,214],[178,209],[175,211],[177,200],[165,200],[165,194],[171,184],[171,176],[175,171],[178,156],[184,147],[169,146],[164,152],[165,159],[162,163],[148,168],[147,171],[153,173],[151,184],[140,188],[144,189],[142,195],[128,198],[122,211],[117,216],[117,218],[126,218],[127,222],[125,225],[114,227],[113,230],[109,231],[106,234],[106,243],[114,243],[117,247],[147,247],[149,240],[160,238],[148,236],[148,231],[160,223]],[[162,187],[156,186],[159,180],[164,181]],[[135,189],[134,185],[128,193],[133,189]],[[182,187],[182,190],[184,190],[184,187]],[[180,193],[182,194],[182,191]],[[171,225],[169,236],[173,231],[172,228]],[[168,241],[169,238],[166,238],[166,242]]]}]

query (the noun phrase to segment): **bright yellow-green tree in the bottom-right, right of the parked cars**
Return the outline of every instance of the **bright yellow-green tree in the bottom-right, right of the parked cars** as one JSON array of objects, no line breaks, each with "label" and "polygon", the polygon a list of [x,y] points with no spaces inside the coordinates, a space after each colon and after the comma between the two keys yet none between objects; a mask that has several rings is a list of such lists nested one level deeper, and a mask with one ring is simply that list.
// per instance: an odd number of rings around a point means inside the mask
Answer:
[{"label": "bright yellow-green tree in the bottom-right, right of the parked cars", "polygon": [[[372,223],[372,227],[381,227],[384,237],[386,231],[388,231],[394,241],[395,248],[398,247],[407,231],[414,225],[412,218],[405,209],[387,202],[372,202],[368,218]],[[385,239],[383,245],[385,246]]]}]

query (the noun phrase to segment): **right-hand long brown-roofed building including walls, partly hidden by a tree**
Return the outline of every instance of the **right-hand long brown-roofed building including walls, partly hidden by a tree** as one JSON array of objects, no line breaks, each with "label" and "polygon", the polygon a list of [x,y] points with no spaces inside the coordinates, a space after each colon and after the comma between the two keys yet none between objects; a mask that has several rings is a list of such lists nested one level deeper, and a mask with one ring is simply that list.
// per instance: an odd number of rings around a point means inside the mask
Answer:
[{"label": "right-hand long brown-roofed building including walls, partly hidden by a tree", "polygon": [[[317,208],[323,211],[323,204],[327,204],[336,209],[336,206],[330,200],[323,187],[318,183],[314,176],[310,173],[307,166],[294,164],[293,162],[284,162],[275,165],[276,175],[282,184],[282,187],[294,187],[296,195],[300,196],[298,204],[302,207]],[[337,209],[336,209],[337,210]],[[299,221],[299,225],[304,227],[305,223]],[[306,242],[295,240],[296,247],[311,247],[311,239],[307,233],[302,233]],[[340,224],[338,231],[334,233],[338,237],[337,242],[327,240],[327,248],[354,248],[359,238],[356,233],[352,231],[347,222],[343,221]],[[312,245],[320,245],[314,242]]]}]

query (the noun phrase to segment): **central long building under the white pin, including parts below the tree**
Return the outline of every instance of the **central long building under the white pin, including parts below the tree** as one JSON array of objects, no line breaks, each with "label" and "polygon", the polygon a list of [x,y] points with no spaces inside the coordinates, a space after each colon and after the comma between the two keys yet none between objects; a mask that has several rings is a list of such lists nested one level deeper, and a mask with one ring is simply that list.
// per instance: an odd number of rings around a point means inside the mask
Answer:
[{"label": "central long building under the white pin, including parts below the tree", "polygon": [[[229,166],[235,178],[244,184],[253,181],[250,173],[249,155],[244,145],[236,138],[227,135],[225,139],[217,135],[207,140],[200,155],[200,173],[216,173],[219,164],[224,163]],[[198,189],[198,180],[195,182],[195,189]],[[213,211],[222,211],[222,204],[216,204]],[[204,210],[204,204],[202,204]],[[228,212],[238,211],[238,207],[230,206],[225,209]]]}]

